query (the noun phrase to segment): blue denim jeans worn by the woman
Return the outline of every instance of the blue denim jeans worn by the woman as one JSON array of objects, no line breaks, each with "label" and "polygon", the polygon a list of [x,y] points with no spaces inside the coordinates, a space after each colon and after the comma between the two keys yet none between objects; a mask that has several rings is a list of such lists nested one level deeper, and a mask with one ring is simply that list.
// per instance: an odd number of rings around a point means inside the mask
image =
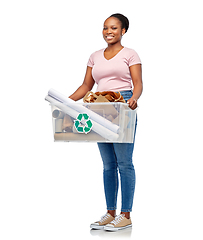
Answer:
[{"label": "blue denim jeans worn by the woman", "polygon": [[[121,92],[125,101],[132,91]],[[135,125],[136,132],[137,120]],[[132,161],[133,143],[98,143],[103,160],[103,181],[107,210],[116,210],[118,195],[118,170],[121,182],[122,212],[131,212],[135,191],[135,169]]]}]

